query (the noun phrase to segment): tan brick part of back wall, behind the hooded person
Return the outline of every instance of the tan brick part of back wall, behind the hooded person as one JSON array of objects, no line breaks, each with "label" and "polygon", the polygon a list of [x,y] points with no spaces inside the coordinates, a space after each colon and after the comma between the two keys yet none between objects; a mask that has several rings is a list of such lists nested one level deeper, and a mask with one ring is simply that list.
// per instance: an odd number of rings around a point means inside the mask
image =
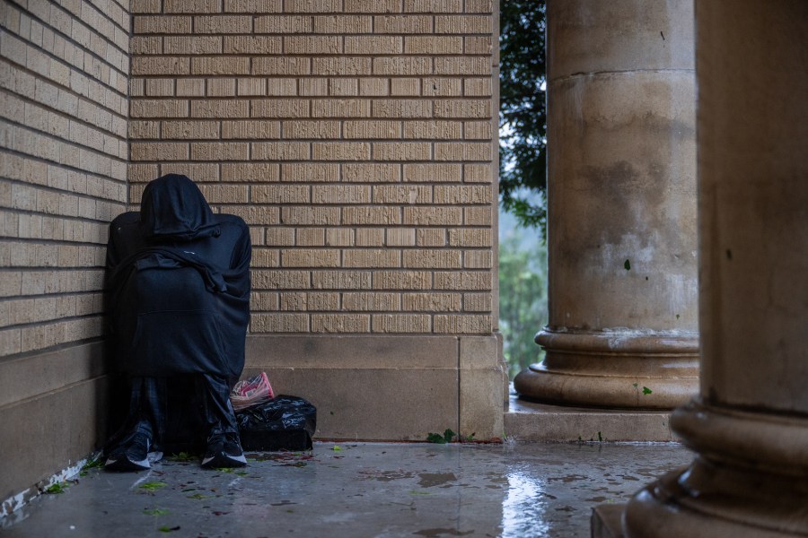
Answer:
[{"label": "tan brick part of back wall, behind the hooded person", "polygon": [[136,1],[131,200],[241,215],[253,334],[491,334],[496,16],[480,0]]}]

